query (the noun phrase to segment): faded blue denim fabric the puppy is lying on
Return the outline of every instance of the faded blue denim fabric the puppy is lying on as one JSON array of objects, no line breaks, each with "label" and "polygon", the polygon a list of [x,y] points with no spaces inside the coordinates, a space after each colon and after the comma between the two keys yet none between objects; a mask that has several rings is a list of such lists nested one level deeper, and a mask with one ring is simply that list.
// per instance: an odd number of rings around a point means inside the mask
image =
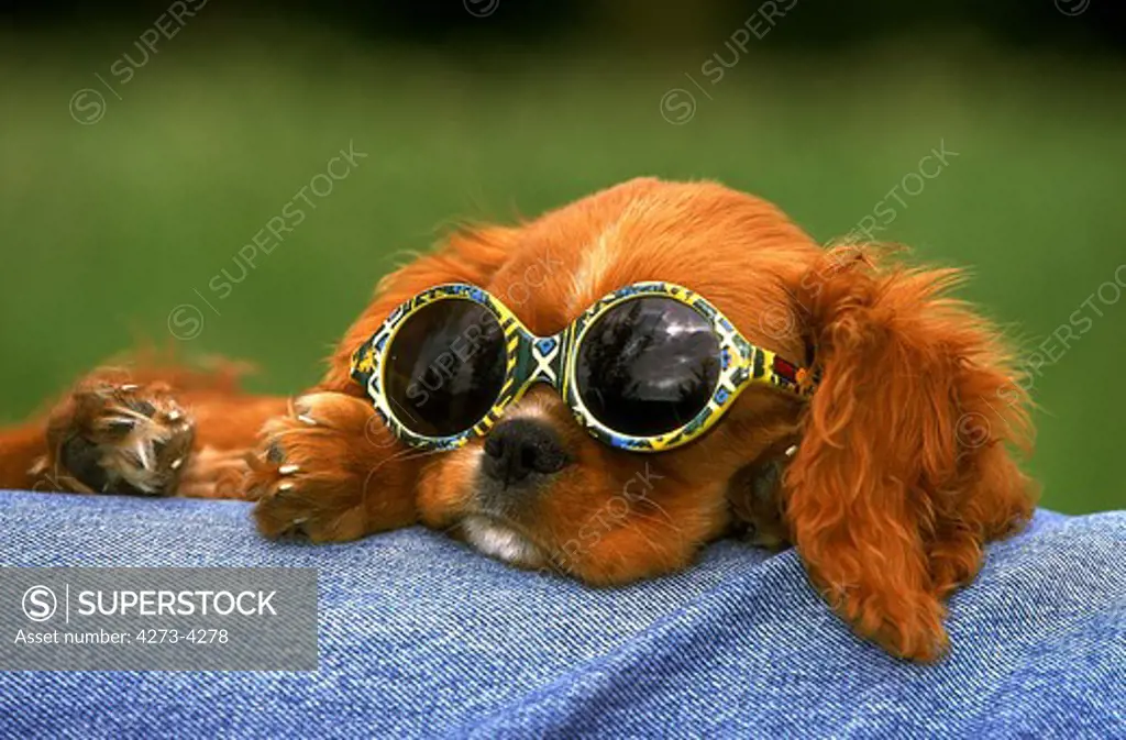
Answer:
[{"label": "faded blue denim fabric the puppy is lying on", "polygon": [[307,674],[0,675],[5,737],[1126,737],[1126,512],[1040,511],[950,604],[951,654],[857,641],[793,551],[593,590],[420,528],[272,544],[245,505],[0,493],[5,565],[320,569]]}]

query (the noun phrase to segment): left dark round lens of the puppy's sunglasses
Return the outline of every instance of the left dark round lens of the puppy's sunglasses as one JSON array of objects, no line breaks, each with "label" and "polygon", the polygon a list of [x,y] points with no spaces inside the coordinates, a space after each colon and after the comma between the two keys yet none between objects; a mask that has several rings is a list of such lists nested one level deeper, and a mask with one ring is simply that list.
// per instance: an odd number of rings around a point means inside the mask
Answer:
[{"label": "left dark round lens of the puppy's sunglasses", "polygon": [[449,437],[489,412],[504,385],[504,332],[481,305],[447,298],[408,316],[384,368],[392,412],[411,431]]}]

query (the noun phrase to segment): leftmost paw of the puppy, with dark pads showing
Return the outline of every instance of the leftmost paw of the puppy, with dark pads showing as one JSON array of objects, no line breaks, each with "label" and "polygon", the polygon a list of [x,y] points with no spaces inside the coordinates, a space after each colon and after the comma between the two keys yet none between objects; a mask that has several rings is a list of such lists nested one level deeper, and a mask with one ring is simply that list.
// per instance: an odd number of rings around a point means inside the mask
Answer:
[{"label": "leftmost paw of the puppy, with dark pads showing", "polygon": [[95,376],[52,412],[48,453],[32,473],[66,491],[169,496],[194,438],[190,416],[167,386]]}]

